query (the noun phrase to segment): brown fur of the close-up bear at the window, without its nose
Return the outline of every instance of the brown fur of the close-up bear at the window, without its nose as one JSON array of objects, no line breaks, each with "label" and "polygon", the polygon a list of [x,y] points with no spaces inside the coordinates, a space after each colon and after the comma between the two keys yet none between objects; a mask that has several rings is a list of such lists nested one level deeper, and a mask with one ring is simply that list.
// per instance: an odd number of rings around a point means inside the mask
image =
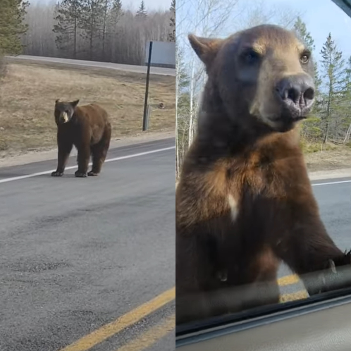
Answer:
[{"label": "brown fur of the close-up bear at the window, without its nose", "polygon": [[[302,62],[308,51],[269,25],[225,40],[189,39],[208,80],[176,191],[177,324],[278,303],[281,260],[310,295],[351,286],[335,282],[350,253],[326,233],[294,112],[274,95],[284,77],[311,80],[313,62]],[[250,65],[241,59],[248,48],[259,53]],[[324,273],[312,279],[316,271]]]}]

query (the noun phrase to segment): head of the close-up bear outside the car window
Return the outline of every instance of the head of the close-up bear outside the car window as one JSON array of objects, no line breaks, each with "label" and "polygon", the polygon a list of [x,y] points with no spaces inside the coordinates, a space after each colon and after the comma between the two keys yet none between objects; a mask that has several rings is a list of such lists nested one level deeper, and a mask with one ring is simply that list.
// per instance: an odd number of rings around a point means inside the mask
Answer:
[{"label": "head of the close-up bear outside the car window", "polygon": [[311,111],[314,65],[293,32],[260,25],[226,39],[188,38],[208,75],[199,118],[286,132]]}]

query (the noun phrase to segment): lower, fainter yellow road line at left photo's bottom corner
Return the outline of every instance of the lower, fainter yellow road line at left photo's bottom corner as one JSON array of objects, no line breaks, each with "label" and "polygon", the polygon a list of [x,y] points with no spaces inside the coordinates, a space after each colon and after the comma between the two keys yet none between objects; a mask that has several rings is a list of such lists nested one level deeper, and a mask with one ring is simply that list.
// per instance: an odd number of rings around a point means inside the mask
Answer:
[{"label": "lower, fainter yellow road line at left photo's bottom corner", "polygon": [[151,347],[159,339],[171,332],[175,327],[176,314],[172,314],[172,316],[168,317],[165,322],[155,325],[145,333],[141,334],[137,339],[134,339],[131,342],[119,347],[119,349],[115,351],[142,351],[148,347]]}]

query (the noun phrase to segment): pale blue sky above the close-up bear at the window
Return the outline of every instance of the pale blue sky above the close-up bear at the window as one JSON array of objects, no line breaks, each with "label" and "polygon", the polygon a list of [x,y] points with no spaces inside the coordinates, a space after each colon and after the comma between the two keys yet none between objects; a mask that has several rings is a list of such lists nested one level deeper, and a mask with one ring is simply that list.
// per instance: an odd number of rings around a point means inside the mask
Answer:
[{"label": "pale blue sky above the close-up bear at the window", "polygon": [[[177,0],[176,7],[176,21],[181,23],[179,27],[182,30],[180,37],[183,38],[183,43],[186,43],[186,34],[188,32],[196,33],[196,29],[192,27],[195,22],[194,13],[198,11],[196,4],[199,1],[206,0]],[[217,0],[218,4],[220,0]],[[223,11],[223,6],[233,0],[226,0],[221,2],[221,7],[216,10],[217,13]],[[230,18],[226,22],[226,26],[222,27],[218,32],[218,37],[226,37],[227,35],[238,30],[237,21],[245,17],[249,11],[247,10],[249,4],[254,4],[256,0],[238,0],[238,4],[233,7]],[[299,12],[300,17],[307,26],[314,39],[316,51],[314,59],[320,60],[320,50],[326,41],[327,35],[331,32],[332,39],[335,40],[337,48],[343,52],[345,61],[351,56],[351,18],[349,18],[333,1],[331,0],[262,0],[264,9],[278,9],[285,13]],[[240,12],[242,11],[242,12]],[[265,10],[266,11],[266,10]],[[246,12],[246,13],[245,13]],[[240,15],[238,15],[240,13]],[[185,20],[184,20],[185,19]],[[187,21],[188,19],[188,21]],[[184,21],[182,21],[184,20]],[[274,23],[274,22],[273,22]],[[180,40],[181,41],[181,40]]]}]

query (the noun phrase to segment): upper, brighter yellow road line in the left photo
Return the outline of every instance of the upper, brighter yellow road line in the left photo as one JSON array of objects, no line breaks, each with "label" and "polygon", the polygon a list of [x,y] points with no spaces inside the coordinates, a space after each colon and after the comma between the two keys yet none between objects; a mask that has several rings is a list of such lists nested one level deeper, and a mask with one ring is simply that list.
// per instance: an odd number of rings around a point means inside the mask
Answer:
[{"label": "upper, brighter yellow road line in the left photo", "polygon": [[101,328],[93,331],[92,333],[85,335],[71,345],[68,345],[61,349],[61,351],[86,351],[91,349],[93,346],[101,343],[107,338],[125,329],[140,319],[146,317],[151,312],[158,310],[160,307],[166,305],[176,298],[176,287],[167,290],[160,295],[156,296],[152,300],[138,306],[134,310],[124,314],[118,319],[111,323],[108,323]]}]

